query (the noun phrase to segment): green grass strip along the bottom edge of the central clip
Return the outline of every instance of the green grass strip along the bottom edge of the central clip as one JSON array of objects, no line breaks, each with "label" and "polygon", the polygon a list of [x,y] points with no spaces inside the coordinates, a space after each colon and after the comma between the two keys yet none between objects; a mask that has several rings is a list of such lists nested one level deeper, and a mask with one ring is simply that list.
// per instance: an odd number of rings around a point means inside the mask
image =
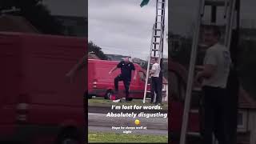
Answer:
[{"label": "green grass strip along the bottom edge of the central clip", "polygon": [[115,134],[115,133],[102,133],[102,132],[89,132],[88,142],[118,142],[118,143],[167,143],[167,135],[152,135],[152,134]]}]

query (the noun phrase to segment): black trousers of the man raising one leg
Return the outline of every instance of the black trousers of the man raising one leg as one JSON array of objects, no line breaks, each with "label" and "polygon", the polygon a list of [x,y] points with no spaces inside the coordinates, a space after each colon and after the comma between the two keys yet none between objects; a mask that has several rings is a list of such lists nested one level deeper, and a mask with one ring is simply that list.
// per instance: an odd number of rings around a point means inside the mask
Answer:
[{"label": "black trousers of the man raising one leg", "polygon": [[[123,85],[126,89],[126,100],[129,99],[129,89],[130,89],[130,78],[124,78],[121,74],[119,74],[116,78],[114,78],[114,89],[115,92],[118,93],[118,82],[122,81]],[[119,98],[119,96],[118,96]]]}]

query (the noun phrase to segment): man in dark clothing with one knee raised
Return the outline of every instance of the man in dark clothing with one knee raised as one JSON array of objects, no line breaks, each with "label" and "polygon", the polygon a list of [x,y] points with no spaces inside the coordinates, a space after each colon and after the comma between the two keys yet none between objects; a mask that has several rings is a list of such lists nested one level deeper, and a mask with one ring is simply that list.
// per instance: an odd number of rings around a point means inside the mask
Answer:
[{"label": "man in dark clothing with one knee raised", "polygon": [[[116,78],[114,78],[114,89],[115,94],[118,94],[118,82],[122,81],[123,85],[126,89],[126,101],[129,101],[129,88],[130,88],[130,82],[131,82],[131,71],[134,70],[134,79],[136,79],[137,71],[135,70],[135,66],[132,62],[129,61],[129,58],[125,58],[124,61],[121,61],[118,63],[117,66],[114,66],[112,70],[110,70],[109,74],[111,74],[114,70],[117,70],[118,68],[121,69],[121,74],[118,74]],[[118,95],[117,95],[118,96]],[[114,102],[119,102],[120,98],[116,98]]]}]

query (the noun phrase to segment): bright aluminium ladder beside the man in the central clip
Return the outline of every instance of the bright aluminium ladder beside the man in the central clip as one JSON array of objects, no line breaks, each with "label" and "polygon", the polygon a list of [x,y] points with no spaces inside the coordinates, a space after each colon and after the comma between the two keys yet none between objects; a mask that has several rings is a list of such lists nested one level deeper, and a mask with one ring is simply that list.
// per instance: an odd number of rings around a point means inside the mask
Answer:
[{"label": "bright aluminium ladder beside the man in the central clip", "polygon": [[[166,9],[166,0],[157,0],[156,1],[156,18],[153,25],[151,45],[150,45],[150,57],[148,58],[147,68],[146,68],[146,82],[145,82],[143,103],[145,103],[146,101],[146,94],[150,92],[150,91],[147,91],[147,86],[150,86],[149,71],[150,71],[150,66],[152,66],[151,58],[158,58],[158,63],[161,66],[162,48],[163,48],[163,42],[164,42],[163,41],[164,28],[165,28],[165,20],[164,20],[165,9]],[[154,99],[155,99],[155,96],[154,96]]]}]

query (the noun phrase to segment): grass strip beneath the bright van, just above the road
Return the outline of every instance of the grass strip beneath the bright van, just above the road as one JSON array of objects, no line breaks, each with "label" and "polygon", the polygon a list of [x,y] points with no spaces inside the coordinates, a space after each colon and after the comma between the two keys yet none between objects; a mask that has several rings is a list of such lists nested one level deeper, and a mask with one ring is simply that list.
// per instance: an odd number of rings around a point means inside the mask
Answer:
[{"label": "grass strip beneath the bright van, just above the road", "polygon": [[[118,102],[114,103],[110,100],[104,99],[104,98],[91,98],[88,99],[88,106],[130,106],[130,105],[137,105],[137,106],[154,106],[154,104],[150,104],[149,102],[142,102],[142,99],[133,99],[131,102]],[[162,110],[168,110],[168,103],[163,102]]]}]

